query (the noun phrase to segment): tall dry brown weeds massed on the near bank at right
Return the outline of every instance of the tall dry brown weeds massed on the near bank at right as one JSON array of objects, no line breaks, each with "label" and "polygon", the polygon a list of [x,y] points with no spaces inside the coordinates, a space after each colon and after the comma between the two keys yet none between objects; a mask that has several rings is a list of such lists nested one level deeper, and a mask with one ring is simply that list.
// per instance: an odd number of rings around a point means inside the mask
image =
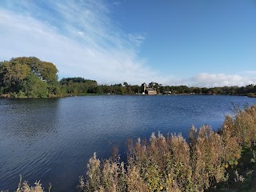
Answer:
[{"label": "tall dry brown weeds massed on the near bank at right", "polygon": [[[210,126],[192,127],[189,142],[181,134],[152,134],[149,141],[127,143],[127,162],[115,154],[100,161],[96,154],[87,164],[86,179],[80,177],[78,191],[205,191],[217,183],[246,183],[239,191],[254,191],[256,106],[226,116],[218,132]],[[255,148],[255,147],[254,147]],[[238,172],[242,150],[250,152],[246,173]],[[243,165],[245,162],[242,162]],[[231,167],[231,168],[229,168]],[[255,167],[255,166],[254,166]],[[226,170],[231,169],[230,174]],[[240,170],[239,170],[240,171]],[[249,181],[249,182],[248,182]],[[225,185],[224,185],[225,186]],[[228,191],[228,185],[225,186]]]}]

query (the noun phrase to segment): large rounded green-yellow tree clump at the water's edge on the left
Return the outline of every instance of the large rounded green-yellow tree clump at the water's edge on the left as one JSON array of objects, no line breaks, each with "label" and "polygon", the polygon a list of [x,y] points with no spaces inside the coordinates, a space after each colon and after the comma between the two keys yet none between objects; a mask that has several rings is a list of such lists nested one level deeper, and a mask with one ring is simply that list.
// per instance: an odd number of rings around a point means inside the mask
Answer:
[{"label": "large rounded green-yellow tree clump at the water's edge on the left", "polygon": [[[57,73],[51,62],[34,57],[11,58],[9,62],[0,63],[0,86],[4,89],[2,92],[18,94],[26,90],[27,96],[45,97],[46,93],[56,93]],[[30,90],[32,87],[37,90]]]}]

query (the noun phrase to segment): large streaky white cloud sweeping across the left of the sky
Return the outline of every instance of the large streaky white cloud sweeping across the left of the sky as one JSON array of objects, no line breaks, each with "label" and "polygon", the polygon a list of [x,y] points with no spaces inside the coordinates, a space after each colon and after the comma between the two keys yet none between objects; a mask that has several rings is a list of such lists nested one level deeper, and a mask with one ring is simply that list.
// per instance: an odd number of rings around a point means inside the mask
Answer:
[{"label": "large streaky white cloud sweeping across the left of the sky", "polygon": [[[0,7],[1,42],[5,45],[0,48],[1,60],[35,56],[54,62],[62,77],[81,76],[100,83],[159,79],[146,60],[138,58],[136,46],[145,38],[125,34],[115,26],[104,2],[45,2],[22,1]],[[45,15],[49,9],[50,15]]]}]

